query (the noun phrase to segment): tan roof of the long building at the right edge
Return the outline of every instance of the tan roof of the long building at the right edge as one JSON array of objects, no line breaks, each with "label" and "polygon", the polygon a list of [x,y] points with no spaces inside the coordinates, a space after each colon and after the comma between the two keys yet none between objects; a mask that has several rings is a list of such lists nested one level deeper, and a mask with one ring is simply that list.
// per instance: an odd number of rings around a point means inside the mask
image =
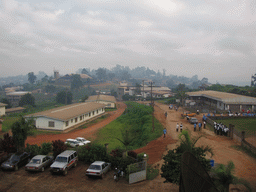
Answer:
[{"label": "tan roof of the long building at the right edge", "polygon": [[256,105],[255,97],[248,97],[244,95],[238,95],[233,93],[219,92],[219,91],[196,91],[187,92],[189,96],[207,97],[214,100],[222,101],[226,104],[253,104]]}]

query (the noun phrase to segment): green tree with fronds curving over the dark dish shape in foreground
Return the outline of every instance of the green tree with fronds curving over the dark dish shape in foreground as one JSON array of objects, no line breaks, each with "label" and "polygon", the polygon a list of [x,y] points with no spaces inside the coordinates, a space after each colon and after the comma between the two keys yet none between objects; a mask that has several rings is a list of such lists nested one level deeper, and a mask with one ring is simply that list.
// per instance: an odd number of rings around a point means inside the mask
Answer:
[{"label": "green tree with fronds curving over the dark dish shape in foreground", "polygon": [[181,173],[181,156],[184,152],[191,152],[203,167],[209,171],[211,169],[210,161],[205,158],[206,153],[213,155],[209,146],[195,147],[200,137],[190,138],[188,131],[183,131],[179,135],[180,145],[176,149],[169,150],[168,154],[163,157],[164,164],[161,167],[161,177],[165,178],[164,182],[179,184]]}]

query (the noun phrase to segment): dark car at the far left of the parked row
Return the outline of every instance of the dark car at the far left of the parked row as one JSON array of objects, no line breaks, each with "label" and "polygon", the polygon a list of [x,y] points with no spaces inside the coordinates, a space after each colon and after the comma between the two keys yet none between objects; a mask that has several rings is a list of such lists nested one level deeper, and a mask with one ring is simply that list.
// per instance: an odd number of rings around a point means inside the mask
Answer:
[{"label": "dark car at the far left of the parked row", "polygon": [[26,165],[29,161],[30,161],[29,153],[17,152],[17,153],[14,153],[7,161],[3,162],[1,165],[1,168],[5,170],[17,171],[19,167]]}]

